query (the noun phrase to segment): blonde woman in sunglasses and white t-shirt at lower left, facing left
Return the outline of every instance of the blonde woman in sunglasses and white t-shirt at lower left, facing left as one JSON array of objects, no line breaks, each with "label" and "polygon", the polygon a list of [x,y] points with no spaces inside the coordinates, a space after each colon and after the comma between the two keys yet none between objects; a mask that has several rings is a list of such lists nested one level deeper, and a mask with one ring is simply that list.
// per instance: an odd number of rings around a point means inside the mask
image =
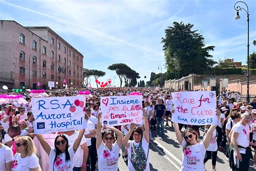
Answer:
[{"label": "blonde woman in sunglasses and white t-shirt at lower left, facing left", "polygon": [[12,163],[12,171],[38,171],[39,159],[36,156],[36,147],[33,140],[28,137],[20,137],[16,141],[16,154]]}]

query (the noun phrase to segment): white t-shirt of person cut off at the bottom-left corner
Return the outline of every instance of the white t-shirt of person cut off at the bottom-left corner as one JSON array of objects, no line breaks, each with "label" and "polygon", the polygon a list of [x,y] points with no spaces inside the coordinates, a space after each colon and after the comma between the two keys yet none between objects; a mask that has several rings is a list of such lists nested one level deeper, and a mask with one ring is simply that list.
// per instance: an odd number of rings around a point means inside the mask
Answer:
[{"label": "white t-shirt of person cut off at the bottom-left corner", "polygon": [[14,160],[14,154],[12,153],[11,148],[0,143],[0,154],[0,170],[11,170],[12,160]]}]

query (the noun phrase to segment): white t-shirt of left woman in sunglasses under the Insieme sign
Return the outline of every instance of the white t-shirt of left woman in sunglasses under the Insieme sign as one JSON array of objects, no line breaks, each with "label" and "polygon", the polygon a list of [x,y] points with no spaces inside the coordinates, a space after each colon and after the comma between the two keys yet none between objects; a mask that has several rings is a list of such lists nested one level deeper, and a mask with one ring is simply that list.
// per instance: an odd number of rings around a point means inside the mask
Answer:
[{"label": "white t-shirt of left woman in sunglasses under the Insieme sign", "polygon": [[117,142],[112,144],[112,151],[102,142],[97,149],[99,170],[118,170],[120,147]]}]

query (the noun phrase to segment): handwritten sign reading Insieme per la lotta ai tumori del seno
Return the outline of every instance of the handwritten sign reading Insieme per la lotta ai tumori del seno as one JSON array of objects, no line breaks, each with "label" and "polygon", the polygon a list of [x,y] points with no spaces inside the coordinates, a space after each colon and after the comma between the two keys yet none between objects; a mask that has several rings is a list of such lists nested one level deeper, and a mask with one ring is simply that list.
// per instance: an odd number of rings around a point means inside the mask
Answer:
[{"label": "handwritten sign reading Insieme per la lotta ai tumori del seno", "polygon": [[143,124],[142,96],[100,97],[102,125]]}]

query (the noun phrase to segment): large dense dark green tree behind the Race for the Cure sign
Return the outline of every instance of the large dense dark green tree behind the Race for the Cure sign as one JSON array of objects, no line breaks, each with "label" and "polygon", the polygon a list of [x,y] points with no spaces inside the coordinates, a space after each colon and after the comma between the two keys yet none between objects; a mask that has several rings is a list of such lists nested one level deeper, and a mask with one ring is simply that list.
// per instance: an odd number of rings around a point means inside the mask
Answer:
[{"label": "large dense dark green tree behind the Race for the Cure sign", "polygon": [[[174,22],[165,30],[165,38],[162,38],[165,55],[167,79],[178,78],[194,74],[203,74],[216,63],[208,52],[214,50],[214,46],[205,47],[203,35],[192,31],[192,24]],[[178,72],[179,70],[179,72]]]}]

